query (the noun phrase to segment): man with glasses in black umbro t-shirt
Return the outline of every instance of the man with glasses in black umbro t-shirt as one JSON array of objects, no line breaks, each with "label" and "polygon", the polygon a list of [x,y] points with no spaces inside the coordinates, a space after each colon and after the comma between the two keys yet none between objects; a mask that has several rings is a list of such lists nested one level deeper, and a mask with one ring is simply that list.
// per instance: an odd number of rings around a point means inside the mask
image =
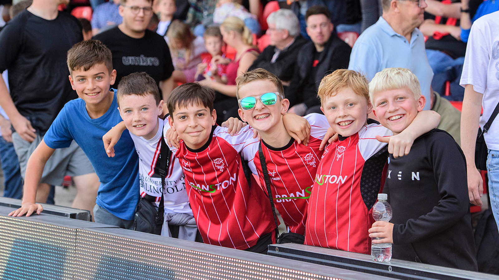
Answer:
[{"label": "man with glasses in black umbro t-shirt", "polygon": [[166,101],[174,87],[174,68],[165,39],[147,29],[153,15],[152,0],[121,0],[118,11],[123,22],[94,36],[113,54],[114,86],[124,76],[146,72],[156,81]]}]

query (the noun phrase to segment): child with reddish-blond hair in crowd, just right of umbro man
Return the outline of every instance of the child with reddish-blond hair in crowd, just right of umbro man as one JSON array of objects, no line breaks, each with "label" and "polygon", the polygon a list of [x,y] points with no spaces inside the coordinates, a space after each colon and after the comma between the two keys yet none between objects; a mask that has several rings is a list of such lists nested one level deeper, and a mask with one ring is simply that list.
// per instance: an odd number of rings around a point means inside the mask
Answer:
[{"label": "child with reddish-blond hair in crowd, just right of umbro man", "polygon": [[189,25],[180,20],[174,20],[166,34],[173,66],[175,66],[172,74],[175,82],[194,82],[197,66],[202,62],[201,54],[206,52],[203,38],[196,38]]}]

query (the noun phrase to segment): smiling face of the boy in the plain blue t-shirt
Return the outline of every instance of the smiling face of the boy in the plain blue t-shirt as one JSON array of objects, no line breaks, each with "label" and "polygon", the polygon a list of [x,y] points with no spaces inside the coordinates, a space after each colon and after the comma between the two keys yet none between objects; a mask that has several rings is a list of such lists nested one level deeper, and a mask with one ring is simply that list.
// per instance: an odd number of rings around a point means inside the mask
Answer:
[{"label": "smiling face of the boy in the plain blue t-shirt", "polygon": [[110,85],[114,84],[116,70],[107,69],[104,63],[97,63],[87,71],[74,69],[69,75],[71,87],[79,98],[85,101],[86,106],[98,106],[102,101],[112,100],[109,92]]}]

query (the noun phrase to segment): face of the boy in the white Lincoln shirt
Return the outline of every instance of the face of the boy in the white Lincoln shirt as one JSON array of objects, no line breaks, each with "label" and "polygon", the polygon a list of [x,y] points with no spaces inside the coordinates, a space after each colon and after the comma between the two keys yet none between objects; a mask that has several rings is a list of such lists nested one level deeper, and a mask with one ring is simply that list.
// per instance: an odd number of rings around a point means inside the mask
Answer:
[{"label": "face of the boy in the white Lincoln shirt", "polygon": [[158,117],[163,113],[163,100],[156,105],[152,94],[147,95],[123,95],[119,98],[121,119],[130,133],[152,139],[158,132]]}]

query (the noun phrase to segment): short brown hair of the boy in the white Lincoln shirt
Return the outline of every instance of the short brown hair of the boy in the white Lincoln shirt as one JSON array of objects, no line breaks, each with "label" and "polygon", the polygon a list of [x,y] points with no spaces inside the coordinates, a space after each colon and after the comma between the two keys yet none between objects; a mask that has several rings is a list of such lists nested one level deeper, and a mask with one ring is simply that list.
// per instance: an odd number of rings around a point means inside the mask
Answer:
[{"label": "short brown hair of the boy in the white Lincoln shirt", "polygon": [[149,94],[156,100],[156,105],[159,105],[161,97],[154,79],[146,72],[136,72],[121,78],[116,98],[119,106],[121,98],[125,95],[147,96]]}]

